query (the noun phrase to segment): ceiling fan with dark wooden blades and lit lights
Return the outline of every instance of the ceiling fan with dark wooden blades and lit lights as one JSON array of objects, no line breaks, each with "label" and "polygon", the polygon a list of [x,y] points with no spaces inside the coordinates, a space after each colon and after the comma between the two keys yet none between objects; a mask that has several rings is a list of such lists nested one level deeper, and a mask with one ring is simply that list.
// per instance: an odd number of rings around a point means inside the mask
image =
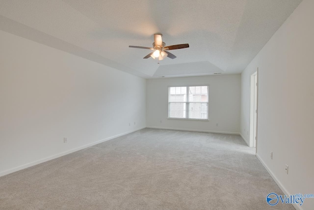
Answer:
[{"label": "ceiling fan with dark wooden blades and lit lights", "polygon": [[171,45],[171,46],[165,46],[166,43],[162,41],[161,36],[162,36],[161,33],[154,34],[155,42],[153,43],[153,47],[140,47],[140,46],[129,46],[129,47],[154,50],[154,52],[148,54],[143,59],[148,59],[149,57],[152,57],[153,59],[158,58],[158,60],[163,60],[165,57],[169,57],[170,59],[177,58],[175,55],[173,55],[172,53],[169,53],[166,50],[177,50],[177,49],[189,47],[188,44],[176,44],[176,45]]}]

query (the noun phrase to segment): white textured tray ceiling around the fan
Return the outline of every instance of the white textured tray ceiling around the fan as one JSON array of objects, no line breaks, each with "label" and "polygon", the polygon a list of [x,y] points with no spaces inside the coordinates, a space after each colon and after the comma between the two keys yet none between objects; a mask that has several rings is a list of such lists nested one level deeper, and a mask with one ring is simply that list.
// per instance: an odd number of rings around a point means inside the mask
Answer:
[{"label": "white textured tray ceiling around the fan", "polygon": [[[240,73],[301,0],[0,0],[0,30],[144,78]],[[172,60],[143,59],[154,33]],[[159,62],[159,64],[158,64]]]}]

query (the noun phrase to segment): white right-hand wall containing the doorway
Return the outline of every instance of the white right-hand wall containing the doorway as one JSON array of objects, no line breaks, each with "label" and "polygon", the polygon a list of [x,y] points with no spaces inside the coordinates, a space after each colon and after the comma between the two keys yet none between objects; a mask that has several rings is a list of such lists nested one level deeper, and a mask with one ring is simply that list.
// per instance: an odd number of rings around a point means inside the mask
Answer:
[{"label": "white right-hand wall containing the doorway", "polygon": [[[259,67],[257,156],[288,194],[314,193],[313,11],[314,0],[303,0],[241,80],[241,133],[248,138],[244,128],[249,129],[250,75]],[[314,198],[306,199],[302,208],[313,210]]]}]

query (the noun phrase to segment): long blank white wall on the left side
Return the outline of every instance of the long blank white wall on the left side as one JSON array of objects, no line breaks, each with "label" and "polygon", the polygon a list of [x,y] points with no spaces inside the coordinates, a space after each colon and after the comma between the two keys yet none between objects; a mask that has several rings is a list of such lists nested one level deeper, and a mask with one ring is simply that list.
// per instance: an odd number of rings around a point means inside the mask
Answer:
[{"label": "long blank white wall on the left side", "polygon": [[0,30],[0,176],[145,127],[145,92],[145,79]]}]

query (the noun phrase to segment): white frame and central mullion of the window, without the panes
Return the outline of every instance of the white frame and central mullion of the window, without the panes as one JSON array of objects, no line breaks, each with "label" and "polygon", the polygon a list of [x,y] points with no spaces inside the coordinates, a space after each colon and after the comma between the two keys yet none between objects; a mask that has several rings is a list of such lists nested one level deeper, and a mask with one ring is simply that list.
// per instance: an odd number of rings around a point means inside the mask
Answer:
[{"label": "white frame and central mullion of the window, without the panes", "polygon": [[[185,110],[185,118],[171,118],[170,117],[170,103],[175,103],[175,102],[170,102],[169,99],[169,93],[170,93],[170,88],[178,88],[178,87],[185,87],[186,88],[186,92],[188,93],[188,90],[190,87],[200,87],[200,86],[207,86],[207,102],[189,102],[188,99],[188,94],[187,94],[187,101],[186,102],[178,102],[178,103],[186,103],[186,105],[188,103],[207,103],[207,118],[206,119],[197,119],[197,118],[187,118],[188,116],[188,110]],[[188,107],[188,105],[187,105]],[[200,121],[209,121],[209,85],[178,85],[178,86],[168,86],[168,118],[169,120],[200,120]]]}]

